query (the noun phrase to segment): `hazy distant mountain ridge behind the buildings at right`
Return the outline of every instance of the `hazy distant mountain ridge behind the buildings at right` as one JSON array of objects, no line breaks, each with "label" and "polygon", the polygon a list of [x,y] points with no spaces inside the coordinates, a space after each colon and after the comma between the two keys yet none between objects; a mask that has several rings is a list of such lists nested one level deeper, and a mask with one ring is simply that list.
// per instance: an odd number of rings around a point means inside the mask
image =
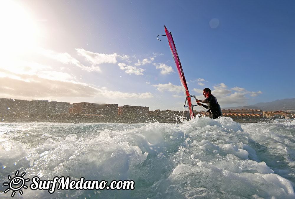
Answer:
[{"label": "hazy distant mountain ridge behind the buildings at right", "polygon": [[260,102],[249,106],[236,106],[222,109],[260,109],[262,111],[295,111],[295,98],[272,102]]}]

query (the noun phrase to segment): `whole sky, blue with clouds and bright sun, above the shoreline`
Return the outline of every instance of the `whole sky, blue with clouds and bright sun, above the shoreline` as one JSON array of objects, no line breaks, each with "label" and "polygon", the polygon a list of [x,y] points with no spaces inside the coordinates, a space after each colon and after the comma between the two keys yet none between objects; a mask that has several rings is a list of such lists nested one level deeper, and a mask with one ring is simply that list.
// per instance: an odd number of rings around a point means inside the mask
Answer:
[{"label": "whole sky, blue with clouds and bright sun, above the shoreline", "polygon": [[0,1],[0,97],[182,110],[294,98],[294,1]]}]

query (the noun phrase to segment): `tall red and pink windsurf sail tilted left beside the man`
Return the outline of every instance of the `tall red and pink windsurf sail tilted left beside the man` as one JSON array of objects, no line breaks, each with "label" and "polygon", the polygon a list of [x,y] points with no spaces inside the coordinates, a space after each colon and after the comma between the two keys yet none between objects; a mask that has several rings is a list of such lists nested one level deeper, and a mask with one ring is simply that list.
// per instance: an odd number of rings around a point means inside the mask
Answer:
[{"label": "tall red and pink windsurf sail tilted left beside the man", "polygon": [[[187,84],[186,84],[186,80],[185,80],[184,73],[183,73],[183,70],[182,70],[182,66],[181,66],[181,63],[180,63],[180,60],[179,60],[179,57],[178,57],[178,53],[176,51],[176,47],[175,47],[175,44],[174,44],[174,41],[173,41],[172,34],[171,34],[171,32],[168,31],[166,26],[164,26],[164,28],[165,28],[166,36],[168,38],[170,50],[171,50],[172,56],[173,56],[175,64],[176,64],[176,68],[177,68],[177,71],[178,71],[180,82],[181,82],[181,84],[182,84],[182,86],[183,86],[183,88],[185,90],[186,101],[188,102],[188,108],[189,108],[189,115],[190,115],[190,117],[192,119],[192,118],[195,117],[194,112],[193,112],[193,106],[191,105],[191,97],[192,96],[189,94],[189,89],[188,89]],[[186,101],[184,103],[184,106],[186,105]]]}]

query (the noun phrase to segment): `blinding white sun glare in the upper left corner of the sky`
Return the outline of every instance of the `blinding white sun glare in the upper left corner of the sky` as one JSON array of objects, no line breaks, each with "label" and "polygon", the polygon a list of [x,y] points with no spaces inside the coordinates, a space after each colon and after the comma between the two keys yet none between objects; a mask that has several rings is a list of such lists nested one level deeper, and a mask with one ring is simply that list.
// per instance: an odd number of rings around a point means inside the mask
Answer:
[{"label": "blinding white sun glare in the upper left corner of the sky", "polygon": [[6,59],[37,46],[39,29],[31,13],[16,1],[0,1],[0,53]]}]

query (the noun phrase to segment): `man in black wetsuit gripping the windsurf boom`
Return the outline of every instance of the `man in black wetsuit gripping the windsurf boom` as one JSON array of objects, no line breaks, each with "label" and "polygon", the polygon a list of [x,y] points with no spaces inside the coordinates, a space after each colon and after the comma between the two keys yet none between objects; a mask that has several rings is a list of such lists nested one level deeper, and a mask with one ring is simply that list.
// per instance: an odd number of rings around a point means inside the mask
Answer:
[{"label": "man in black wetsuit gripping the windsurf boom", "polygon": [[[222,116],[221,108],[220,108],[220,106],[219,106],[219,104],[217,102],[216,97],[214,97],[211,94],[211,90],[209,88],[204,88],[203,95],[204,95],[204,97],[206,99],[204,99],[204,100],[198,100],[197,99],[196,102],[198,103],[198,105],[203,106],[204,108],[209,109],[207,112],[209,112],[209,117],[211,119],[216,119],[219,116]],[[200,102],[207,103],[207,106],[204,105],[204,104],[201,104]]]}]

